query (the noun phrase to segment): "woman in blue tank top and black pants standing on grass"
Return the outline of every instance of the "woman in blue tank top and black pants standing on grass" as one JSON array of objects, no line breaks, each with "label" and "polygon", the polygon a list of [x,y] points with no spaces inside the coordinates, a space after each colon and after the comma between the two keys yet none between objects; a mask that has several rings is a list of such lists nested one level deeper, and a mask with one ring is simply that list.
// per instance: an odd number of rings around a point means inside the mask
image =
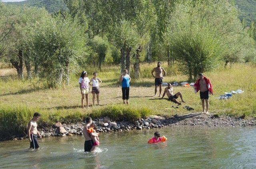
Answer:
[{"label": "woman in blue tank top and black pants standing on grass", "polygon": [[[124,104],[129,104],[128,99],[129,99],[129,90],[130,90],[130,81],[131,78],[130,76],[127,74],[128,70],[124,69],[124,73],[122,73],[122,75],[120,76],[120,82],[122,83],[122,98],[124,101]],[[126,100],[126,102],[125,102]]]}]

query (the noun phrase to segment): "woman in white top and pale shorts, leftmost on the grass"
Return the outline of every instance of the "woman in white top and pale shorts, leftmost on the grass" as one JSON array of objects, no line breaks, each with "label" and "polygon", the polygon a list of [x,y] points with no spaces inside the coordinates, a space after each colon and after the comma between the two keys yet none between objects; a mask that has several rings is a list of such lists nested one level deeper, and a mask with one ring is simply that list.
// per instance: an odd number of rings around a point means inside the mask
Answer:
[{"label": "woman in white top and pale shorts, leftmost on the grass", "polygon": [[84,96],[86,98],[86,107],[90,108],[89,102],[88,102],[88,94],[90,93],[90,85],[89,85],[90,80],[87,77],[86,71],[82,72],[82,75],[80,76],[78,81],[79,81],[79,86],[80,86],[80,90],[81,90],[81,94],[82,94],[82,99],[81,99],[82,108],[85,108],[84,107]]}]

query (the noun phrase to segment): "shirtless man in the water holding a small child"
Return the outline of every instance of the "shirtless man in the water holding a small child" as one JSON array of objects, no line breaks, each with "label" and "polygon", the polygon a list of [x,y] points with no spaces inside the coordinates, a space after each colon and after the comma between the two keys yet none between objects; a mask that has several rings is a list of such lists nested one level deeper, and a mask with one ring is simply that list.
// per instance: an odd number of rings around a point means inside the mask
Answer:
[{"label": "shirtless man in the water holding a small child", "polygon": [[96,134],[96,133],[89,134],[87,132],[87,130],[90,128],[90,125],[92,124],[92,118],[88,117],[88,118],[86,118],[85,121],[86,121],[86,125],[84,126],[84,129],[83,129],[83,134],[84,134],[84,138],[85,138],[84,152],[91,151],[91,149],[92,149],[93,141],[92,141],[91,135],[94,137],[98,136],[98,134]]}]

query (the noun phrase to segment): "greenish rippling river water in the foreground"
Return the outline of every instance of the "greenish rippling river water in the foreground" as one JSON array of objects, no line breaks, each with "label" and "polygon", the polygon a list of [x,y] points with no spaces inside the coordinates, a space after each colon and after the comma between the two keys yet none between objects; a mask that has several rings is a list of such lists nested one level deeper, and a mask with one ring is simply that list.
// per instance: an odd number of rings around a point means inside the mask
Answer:
[{"label": "greenish rippling river water in the foreground", "polygon": [[[154,132],[166,143],[148,144]],[[100,134],[96,153],[84,153],[84,137],[0,142],[0,168],[15,169],[170,169],[256,168],[256,128],[167,127]]]}]

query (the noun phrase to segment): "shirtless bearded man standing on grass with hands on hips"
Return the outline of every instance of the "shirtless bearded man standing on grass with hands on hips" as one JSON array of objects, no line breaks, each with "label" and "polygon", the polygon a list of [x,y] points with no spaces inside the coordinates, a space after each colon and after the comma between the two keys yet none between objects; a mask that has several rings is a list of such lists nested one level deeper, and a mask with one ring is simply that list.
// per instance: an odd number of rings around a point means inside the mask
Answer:
[{"label": "shirtless bearded man standing on grass with hands on hips", "polygon": [[[155,72],[155,75],[154,75],[154,72]],[[162,72],[164,72],[164,76],[162,76]],[[151,74],[155,78],[155,95],[153,97],[156,96],[157,86],[159,86],[159,97],[161,97],[162,83],[163,83],[163,79],[166,75],[166,71],[164,70],[164,68],[161,67],[161,62],[157,63],[157,67],[155,67],[152,70]]]}]

